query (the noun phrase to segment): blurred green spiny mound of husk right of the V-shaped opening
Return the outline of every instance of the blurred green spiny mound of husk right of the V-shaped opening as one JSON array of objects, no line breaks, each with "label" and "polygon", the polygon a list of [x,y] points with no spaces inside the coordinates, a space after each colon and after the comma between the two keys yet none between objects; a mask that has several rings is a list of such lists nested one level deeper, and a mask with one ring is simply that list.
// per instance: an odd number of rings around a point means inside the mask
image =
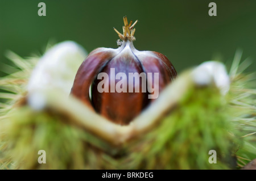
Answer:
[{"label": "blurred green spiny mound of husk right of the V-shaped opening", "polygon": [[[213,87],[192,87],[179,105],[141,140],[140,169],[228,169],[236,137],[229,131],[225,100]],[[218,164],[208,162],[216,150]],[[143,161],[143,162],[142,162]]]}]

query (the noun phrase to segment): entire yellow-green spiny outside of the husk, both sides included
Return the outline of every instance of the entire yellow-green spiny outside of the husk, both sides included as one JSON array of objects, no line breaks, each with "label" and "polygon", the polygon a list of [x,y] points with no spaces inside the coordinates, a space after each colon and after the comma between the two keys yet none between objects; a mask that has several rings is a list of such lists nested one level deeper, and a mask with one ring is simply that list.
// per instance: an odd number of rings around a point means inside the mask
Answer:
[{"label": "entire yellow-green spiny outside of the husk, both sides included", "polygon": [[[7,91],[1,93],[7,99],[0,110],[1,169],[235,169],[256,158],[254,76],[238,71],[239,61],[226,96],[214,85],[189,83],[154,127],[113,145],[80,127],[72,113],[32,110],[26,83],[36,59],[9,55],[21,70],[0,81]],[[38,163],[39,150],[46,151],[46,164]],[[209,150],[216,150],[216,164],[208,162]]]}]

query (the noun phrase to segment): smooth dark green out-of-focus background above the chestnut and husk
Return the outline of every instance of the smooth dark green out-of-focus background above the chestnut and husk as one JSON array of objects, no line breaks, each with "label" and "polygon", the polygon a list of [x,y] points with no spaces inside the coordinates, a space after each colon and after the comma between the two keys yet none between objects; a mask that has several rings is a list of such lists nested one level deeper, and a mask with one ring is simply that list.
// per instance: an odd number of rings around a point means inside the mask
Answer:
[{"label": "smooth dark green out-of-focus background above the chestnut and husk", "polygon": [[[47,16],[38,16],[39,2],[46,3]],[[210,2],[217,4],[217,16],[208,15]],[[49,40],[73,40],[88,52],[117,48],[113,27],[122,31],[124,15],[139,20],[135,48],[165,54],[178,73],[213,59],[230,65],[237,49],[254,62],[247,71],[255,70],[255,0],[1,0],[0,64],[9,64],[6,50],[43,54]]]}]

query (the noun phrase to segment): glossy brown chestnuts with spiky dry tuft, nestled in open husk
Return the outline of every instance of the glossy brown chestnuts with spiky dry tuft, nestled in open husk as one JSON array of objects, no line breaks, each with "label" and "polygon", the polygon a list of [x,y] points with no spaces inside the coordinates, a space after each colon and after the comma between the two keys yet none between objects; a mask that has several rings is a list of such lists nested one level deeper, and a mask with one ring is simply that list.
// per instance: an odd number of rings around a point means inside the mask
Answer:
[{"label": "glossy brown chestnuts with spiky dry tuft, nestled in open husk", "polygon": [[134,48],[135,24],[123,18],[119,48],[97,48],[82,62],[71,94],[114,123],[127,125],[177,75],[166,56]]}]

